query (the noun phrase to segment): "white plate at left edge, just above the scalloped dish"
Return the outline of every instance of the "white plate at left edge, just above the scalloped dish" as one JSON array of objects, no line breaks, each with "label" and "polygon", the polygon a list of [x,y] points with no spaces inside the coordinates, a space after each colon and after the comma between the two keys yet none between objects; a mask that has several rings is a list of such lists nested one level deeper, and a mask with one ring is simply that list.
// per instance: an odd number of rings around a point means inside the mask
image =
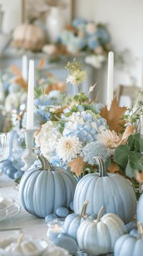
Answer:
[{"label": "white plate at left edge, just above the scalloped dish", "polygon": [[16,202],[13,202],[13,205],[10,206],[6,210],[0,211],[0,221],[7,220],[8,218],[12,218],[16,214],[18,214],[21,211],[21,206],[17,204]]}]

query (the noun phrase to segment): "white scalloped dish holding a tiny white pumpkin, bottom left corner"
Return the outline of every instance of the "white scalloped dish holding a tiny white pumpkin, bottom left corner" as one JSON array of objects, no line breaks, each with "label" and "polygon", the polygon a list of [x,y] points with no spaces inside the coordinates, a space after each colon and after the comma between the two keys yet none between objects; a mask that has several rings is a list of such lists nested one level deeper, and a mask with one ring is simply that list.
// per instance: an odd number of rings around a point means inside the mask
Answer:
[{"label": "white scalloped dish holding a tiny white pumpkin, bottom left corner", "polygon": [[16,252],[16,251],[6,251],[5,248],[7,246],[10,246],[12,243],[17,243],[18,239],[15,237],[7,238],[5,240],[0,240],[0,255],[4,256],[41,256],[43,255],[44,251],[48,247],[48,243],[44,240],[37,239],[37,238],[30,238],[30,239],[24,239],[23,242],[28,241],[32,242],[36,246],[36,251],[33,252]]}]

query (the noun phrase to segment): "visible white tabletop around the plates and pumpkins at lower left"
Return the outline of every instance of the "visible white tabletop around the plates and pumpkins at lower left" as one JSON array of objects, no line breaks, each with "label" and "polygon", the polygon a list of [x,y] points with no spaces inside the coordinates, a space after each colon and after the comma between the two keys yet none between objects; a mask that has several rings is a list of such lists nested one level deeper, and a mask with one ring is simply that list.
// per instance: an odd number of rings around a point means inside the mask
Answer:
[{"label": "visible white tabletop around the plates and pumpkins at lower left", "polygon": [[[19,232],[24,235],[32,236],[33,238],[41,238],[46,240],[48,247],[51,248],[52,254],[43,254],[43,256],[66,256],[67,251],[55,246],[47,237],[47,224],[42,218],[38,218],[30,213],[28,213],[22,206],[19,198],[19,186],[15,183],[13,179],[8,178],[8,176],[2,174],[0,176],[0,195],[12,198],[18,205],[19,211],[15,216],[10,218],[5,218],[5,220],[0,219],[0,240],[8,237],[18,237]],[[55,250],[55,251],[54,251]],[[54,253],[53,253],[54,251]],[[0,254],[1,255],[1,254]],[[113,254],[107,254],[112,256]],[[42,256],[42,255],[41,255]],[[78,248],[78,252],[74,256],[88,256],[85,252]],[[103,255],[102,255],[103,256]]]}]

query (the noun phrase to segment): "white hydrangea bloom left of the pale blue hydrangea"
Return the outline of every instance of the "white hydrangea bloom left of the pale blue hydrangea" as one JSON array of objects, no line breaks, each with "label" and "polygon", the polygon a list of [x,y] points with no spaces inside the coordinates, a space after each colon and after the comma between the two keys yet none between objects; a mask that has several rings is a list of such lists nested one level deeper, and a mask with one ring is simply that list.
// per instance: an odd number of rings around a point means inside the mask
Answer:
[{"label": "white hydrangea bloom left of the pale blue hydrangea", "polygon": [[47,121],[41,126],[41,130],[35,137],[35,143],[41,148],[41,153],[50,159],[56,151],[56,144],[61,138],[61,133],[58,131],[58,123]]}]

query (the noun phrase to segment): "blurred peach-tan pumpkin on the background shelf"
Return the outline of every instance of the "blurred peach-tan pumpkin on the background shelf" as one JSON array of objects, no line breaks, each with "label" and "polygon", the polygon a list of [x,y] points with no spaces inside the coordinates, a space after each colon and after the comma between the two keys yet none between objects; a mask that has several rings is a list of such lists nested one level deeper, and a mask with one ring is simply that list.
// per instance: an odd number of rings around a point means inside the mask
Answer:
[{"label": "blurred peach-tan pumpkin on the background shelf", "polygon": [[13,32],[12,45],[16,48],[38,51],[44,44],[44,30],[35,24],[21,24]]}]

